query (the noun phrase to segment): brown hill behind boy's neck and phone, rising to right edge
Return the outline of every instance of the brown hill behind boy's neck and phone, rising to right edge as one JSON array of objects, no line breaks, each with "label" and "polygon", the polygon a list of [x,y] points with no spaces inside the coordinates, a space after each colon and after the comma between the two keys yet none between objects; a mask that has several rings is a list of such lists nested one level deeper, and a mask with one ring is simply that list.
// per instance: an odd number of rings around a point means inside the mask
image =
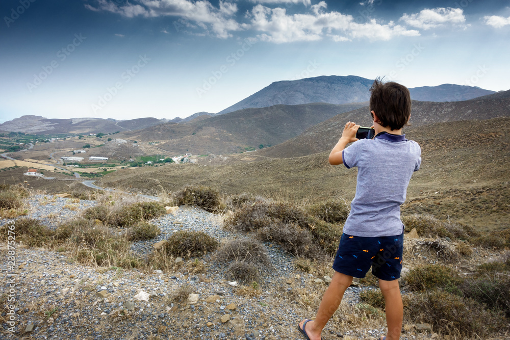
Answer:
[{"label": "brown hill behind boy's neck and phone, rising to right edge", "polygon": [[[492,96],[496,96],[493,99]],[[330,150],[341,136],[348,121],[370,126],[368,107],[339,114],[316,126],[305,130],[301,135],[271,148],[257,151],[257,154],[275,158],[304,156]],[[411,112],[412,128],[441,122],[464,120],[486,120],[510,116],[510,91],[497,93],[481,99],[456,102],[413,101]],[[404,132],[409,127],[404,127]]]}]

